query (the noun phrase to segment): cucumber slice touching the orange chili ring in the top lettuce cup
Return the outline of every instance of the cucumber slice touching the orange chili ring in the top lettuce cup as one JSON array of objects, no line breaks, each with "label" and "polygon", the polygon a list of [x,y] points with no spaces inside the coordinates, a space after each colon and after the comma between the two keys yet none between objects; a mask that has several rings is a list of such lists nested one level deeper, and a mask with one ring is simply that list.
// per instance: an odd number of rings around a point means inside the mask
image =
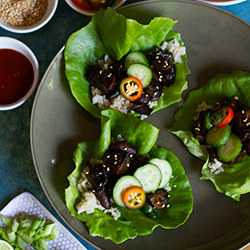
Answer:
[{"label": "cucumber slice touching the orange chili ring in the top lettuce cup", "polygon": [[128,76],[134,76],[138,78],[141,81],[143,88],[147,87],[152,79],[151,69],[148,66],[141,63],[131,64],[128,67],[127,74]]}]

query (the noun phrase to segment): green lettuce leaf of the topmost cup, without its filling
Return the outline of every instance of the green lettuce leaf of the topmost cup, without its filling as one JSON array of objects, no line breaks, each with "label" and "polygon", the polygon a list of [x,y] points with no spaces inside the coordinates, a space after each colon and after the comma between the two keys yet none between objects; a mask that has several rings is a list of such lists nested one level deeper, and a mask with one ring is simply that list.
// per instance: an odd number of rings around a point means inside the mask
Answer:
[{"label": "green lettuce leaf of the topmost cup, without its filling", "polygon": [[[148,51],[174,38],[183,45],[180,34],[172,30],[176,22],[156,17],[148,25],[142,25],[117,14],[112,8],[95,14],[89,24],[73,33],[66,43],[65,72],[77,102],[100,118],[101,110],[92,103],[90,83],[85,77],[88,66],[96,65],[104,55],[117,61],[129,51]],[[189,73],[186,54],[182,56],[182,63],[176,64],[176,72],[174,83],[164,87],[163,95],[152,113],[181,100],[182,92],[187,89],[185,78]]]}]

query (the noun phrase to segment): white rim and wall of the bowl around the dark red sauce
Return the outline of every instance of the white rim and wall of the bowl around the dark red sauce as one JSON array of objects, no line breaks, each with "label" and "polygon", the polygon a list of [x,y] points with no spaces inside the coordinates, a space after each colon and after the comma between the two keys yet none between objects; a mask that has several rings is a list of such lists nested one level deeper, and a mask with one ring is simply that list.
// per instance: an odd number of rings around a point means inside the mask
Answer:
[{"label": "white rim and wall of the bowl around the dark red sauce", "polygon": [[25,45],[24,43],[20,42],[17,39],[0,36],[0,49],[13,49],[23,54],[31,62],[33,72],[34,72],[33,82],[29,91],[21,99],[13,103],[0,104],[0,111],[1,111],[1,110],[10,110],[10,109],[19,107],[26,100],[28,100],[28,98],[33,94],[33,92],[36,89],[38,78],[39,78],[39,64],[38,64],[36,56],[31,51],[31,49],[27,45]]}]

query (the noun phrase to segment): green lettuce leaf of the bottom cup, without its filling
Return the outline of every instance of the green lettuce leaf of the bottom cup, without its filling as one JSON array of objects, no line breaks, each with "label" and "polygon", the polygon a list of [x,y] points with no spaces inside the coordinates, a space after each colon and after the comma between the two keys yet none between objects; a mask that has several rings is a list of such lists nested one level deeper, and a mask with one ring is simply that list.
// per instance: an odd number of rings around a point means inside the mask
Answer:
[{"label": "green lettuce leaf of the bottom cup, without its filling", "polygon": [[[87,214],[78,214],[76,205],[80,201],[81,193],[77,184],[86,163],[92,159],[103,159],[109,148],[111,139],[122,135],[137,150],[138,155],[149,155],[166,159],[172,166],[173,177],[170,180],[168,200],[169,207],[156,210],[156,218],[145,216],[140,210],[119,207],[121,216],[115,220],[112,216],[99,209]],[[92,236],[102,236],[115,243],[133,239],[138,235],[151,234],[157,226],[173,229],[182,225],[193,209],[191,186],[178,158],[165,148],[155,146],[158,129],[153,125],[141,121],[132,115],[125,115],[115,110],[104,110],[101,113],[101,135],[91,142],[81,142],[74,152],[75,170],[68,176],[69,187],[65,190],[66,205],[70,213],[86,222]],[[113,205],[114,206],[114,205]]]}]

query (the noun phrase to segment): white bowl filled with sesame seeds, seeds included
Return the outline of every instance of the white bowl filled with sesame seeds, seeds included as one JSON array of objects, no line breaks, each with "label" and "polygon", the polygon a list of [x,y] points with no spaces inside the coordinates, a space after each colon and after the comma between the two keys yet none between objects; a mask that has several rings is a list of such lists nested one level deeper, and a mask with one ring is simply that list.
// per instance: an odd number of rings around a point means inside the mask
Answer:
[{"label": "white bowl filled with sesame seeds, seeds included", "polygon": [[58,0],[0,0],[0,27],[15,33],[40,29],[54,15]]}]

